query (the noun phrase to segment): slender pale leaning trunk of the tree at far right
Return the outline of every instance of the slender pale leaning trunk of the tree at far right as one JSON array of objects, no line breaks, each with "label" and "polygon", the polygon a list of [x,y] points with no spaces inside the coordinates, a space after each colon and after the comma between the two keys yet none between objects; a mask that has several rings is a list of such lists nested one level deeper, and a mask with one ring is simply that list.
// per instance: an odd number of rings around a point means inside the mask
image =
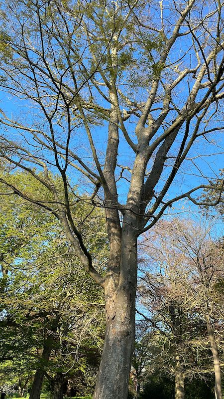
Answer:
[{"label": "slender pale leaning trunk of the tree at far right", "polygon": [[214,371],[215,371],[215,395],[216,399],[223,399],[220,357],[209,314],[206,314],[206,323],[207,323],[208,336],[211,344],[211,351],[213,354]]}]

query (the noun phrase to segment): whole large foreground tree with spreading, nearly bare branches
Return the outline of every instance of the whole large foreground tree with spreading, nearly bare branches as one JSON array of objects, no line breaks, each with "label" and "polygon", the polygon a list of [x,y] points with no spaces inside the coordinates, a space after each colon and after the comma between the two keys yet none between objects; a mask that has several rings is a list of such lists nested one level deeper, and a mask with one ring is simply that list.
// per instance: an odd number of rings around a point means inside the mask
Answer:
[{"label": "whole large foreground tree with spreading, nearly bare branches", "polygon": [[[205,160],[207,149],[216,153],[214,135],[224,129],[223,4],[6,0],[1,15],[2,163],[35,177],[49,201],[1,182],[60,220],[104,288],[107,328],[94,398],[126,398],[137,237],[216,177],[207,176],[199,154],[203,146]],[[186,192],[176,178],[182,168],[197,174]],[[105,207],[106,276],[93,267],[75,201]]]}]

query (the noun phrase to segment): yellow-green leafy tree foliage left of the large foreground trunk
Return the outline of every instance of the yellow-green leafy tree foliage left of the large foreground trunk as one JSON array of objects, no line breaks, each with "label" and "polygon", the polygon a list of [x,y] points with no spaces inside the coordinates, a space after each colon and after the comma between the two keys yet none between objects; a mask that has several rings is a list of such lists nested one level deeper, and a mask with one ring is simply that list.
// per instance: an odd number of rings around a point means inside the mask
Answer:
[{"label": "yellow-green leafy tree foliage left of the large foreground trunk", "polygon": [[[25,176],[11,179],[22,184]],[[35,180],[29,181],[29,188],[38,190]],[[102,293],[75,262],[70,243],[51,215],[3,193],[0,207],[2,379],[10,379],[23,396],[35,373],[30,397],[39,398],[44,375],[50,371],[58,388],[55,398],[61,398],[61,371],[66,374],[72,366],[82,366],[80,348],[87,346],[88,352],[95,345],[99,358],[96,342],[100,347]],[[82,209],[78,206],[74,212],[82,221]],[[93,252],[98,248],[98,266],[102,263],[103,267],[107,256],[104,216],[98,209],[94,214],[91,223],[84,214],[83,233]]]}]

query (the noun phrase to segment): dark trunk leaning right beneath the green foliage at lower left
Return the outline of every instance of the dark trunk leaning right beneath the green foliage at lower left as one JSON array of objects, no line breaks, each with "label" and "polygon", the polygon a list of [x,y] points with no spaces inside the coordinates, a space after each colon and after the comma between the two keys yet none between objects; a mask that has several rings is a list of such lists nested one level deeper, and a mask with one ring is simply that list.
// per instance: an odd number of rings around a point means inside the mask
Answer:
[{"label": "dark trunk leaning right beneath the green foliage at lower left", "polygon": [[[43,364],[48,362],[48,360],[50,358],[51,349],[52,349],[53,342],[54,342],[54,338],[51,336],[50,333],[56,333],[57,327],[58,327],[58,322],[59,322],[59,316],[57,316],[53,320],[52,326],[49,330],[49,334],[48,334],[46,343],[43,347],[43,352],[41,355],[41,363],[43,363]],[[40,399],[40,393],[41,393],[41,388],[42,388],[42,384],[43,384],[43,379],[44,379],[44,367],[40,367],[37,369],[37,371],[35,373],[29,399]]]}]

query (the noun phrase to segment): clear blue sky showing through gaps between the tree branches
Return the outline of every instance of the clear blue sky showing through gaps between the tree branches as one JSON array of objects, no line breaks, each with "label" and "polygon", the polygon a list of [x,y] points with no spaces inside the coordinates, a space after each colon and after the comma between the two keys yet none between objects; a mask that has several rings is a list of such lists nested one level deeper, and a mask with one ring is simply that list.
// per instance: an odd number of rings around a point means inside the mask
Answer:
[{"label": "clear blue sky showing through gaps between the tree branches", "polygon": [[[172,28],[172,24],[175,24],[175,19],[171,19],[172,17],[172,8],[171,8],[171,2],[169,1],[164,1],[164,17],[167,18],[167,32],[169,29]],[[157,4],[158,5],[158,4]],[[208,8],[207,6],[204,7],[203,12],[207,12]],[[158,20],[158,26],[159,26],[159,18],[160,18],[160,12],[159,10],[154,10],[154,20],[153,23],[154,25],[157,23]],[[200,13],[199,11],[195,11],[192,15],[192,17],[197,18]],[[157,19],[158,18],[158,19]],[[211,22],[212,23],[212,22]],[[211,25],[210,23],[210,25]],[[185,26],[183,30],[186,30],[187,27]],[[200,32],[199,32],[200,33]],[[35,44],[35,42],[34,42]],[[188,53],[185,54],[186,50],[189,49]],[[136,58],[140,57],[140,50],[137,49],[134,52],[134,56]],[[144,57],[142,57],[142,62],[143,62]],[[172,70],[172,65],[175,64],[180,64],[179,68],[180,70],[183,70],[186,65],[189,65],[189,63],[194,64],[196,62],[196,57],[194,54],[193,49],[191,48],[191,43],[190,43],[190,37],[184,36],[181,37],[177,40],[176,44],[173,46],[171,54],[169,58],[167,59],[167,68],[163,72],[163,81],[167,82],[170,79],[170,73],[175,75],[174,71]],[[87,64],[88,65],[88,64]],[[133,97],[135,95],[137,100],[144,100],[148,92],[146,88],[142,87],[136,87],[135,89],[129,87],[126,83],[128,82],[128,79],[130,77],[130,71],[131,71],[132,66],[130,65],[129,70],[127,70],[122,79],[122,87],[124,88],[124,92],[127,92],[128,90],[133,93]],[[142,73],[145,74],[145,78],[147,78],[147,70],[145,68],[145,65],[141,65],[142,68]],[[177,76],[177,74],[176,74]],[[99,77],[99,76],[98,76]],[[207,76],[205,80],[207,79]],[[175,101],[178,106],[181,106],[184,104],[184,101],[186,99],[186,96],[188,95],[188,90],[189,88],[192,88],[194,84],[194,78],[190,77],[189,79],[186,79],[181,83],[180,88],[176,91],[175,94]],[[126,86],[128,86],[126,88]],[[205,90],[202,90],[202,95],[205,94]],[[96,91],[94,92],[94,95],[96,95]],[[200,98],[199,98],[200,99]],[[198,100],[199,100],[198,99]],[[33,104],[29,103],[27,100],[19,100],[18,98],[13,98],[9,94],[5,94],[4,92],[1,92],[0,96],[1,104],[0,107],[4,110],[6,114],[9,115],[9,117],[12,115],[12,117],[15,120],[25,120],[25,123],[28,124],[35,124],[38,122],[40,128],[44,126],[43,117],[40,116],[39,111],[37,108],[33,108]],[[106,101],[104,99],[96,99],[96,102],[101,104],[102,106],[106,106]],[[162,99],[156,103],[157,106],[161,105]],[[222,111],[223,108],[223,100],[220,102],[220,109]],[[153,117],[158,116],[159,111],[153,111],[152,115]],[[175,111],[170,112],[170,116],[168,117],[167,122],[170,122],[173,117],[175,117]],[[207,115],[207,118],[211,116],[211,113]],[[133,138],[133,141],[136,142],[136,139],[134,138],[134,129],[136,125],[136,120],[137,118],[130,118],[125,125],[127,127],[128,133],[131,138]],[[222,125],[222,114],[217,118],[216,116],[213,117],[213,119],[210,122],[210,126],[217,127],[219,124]],[[202,124],[203,125],[203,124]],[[164,125],[165,126],[165,125]],[[161,126],[161,129],[159,130],[158,134],[161,134],[162,129],[164,126]],[[4,133],[4,128],[1,126],[1,131]],[[62,142],[65,141],[65,137],[63,136],[63,129],[60,130],[60,128],[57,128],[57,133],[58,136],[61,135]],[[107,123],[104,124],[104,126],[94,126],[92,129],[94,141],[97,147],[98,151],[98,156],[100,162],[102,164],[104,163],[104,154],[106,150],[106,145],[107,145]],[[20,137],[18,132],[12,129],[8,129],[7,131],[8,136],[10,139],[19,141]],[[183,136],[183,132],[180,133],[180,136],[176,143],[172,146],[171,151],[170,151],[170,156],[175,156],[177,154],[181,139]],[[27,141],[30,144],[33,144],[33,140],[30,134],[26,134]],[[208,140],[212,140],[212,143],[209,142]],[[215,142],[217,144],[215,144]],[[26,144],[27,145],[27,144]],[[88,163],[88,165],[93,168],[92,164],[92,154],[90,151],[90,147],[88,144],[88,140],[86,137],[85,130],[83,126],[80,126],[77,128],[74,132],[74,135],[71,140],[71,148],[77,150],[78,155],[81,157],[81,159],[85,162]],[[177,195],[181,195],[184,192],[194,188],[195,186],[198,186],[199,184],[208,184],[207,178],[209,177],[211,180],[217,178],[219,176],[219,171],[220,169],[224,168],[224,157],[223,157],[223,150],[224,149],[224,136],[222,134],[222,131],[219,132],[217,131],[216,133],[212,133],[211,135],[207,136],[207,139],[204,139],[203,137],[200,138],[200,140],[195,142],[194,146],[192,147],[191,151],[188,154],[188,157],[186,161],[182,164],[180,171],[178,172],[175,181],[173,182],[169,192],[167,193],[165,200],[171,199]],[[46,158],[48,158],[48,161],[52,161],[53,158],[49,153],[45,153]],[[128,147],[126,141],[124,140],[122,133],[120,133],[120,144],[119,144],[119,149],[118,149],[118,165],[123,165],[125,167],[132,168],[133,166],[133,161],[134,161],[134,153],[133,151]],[[167,160],[167,164],[169,164],[169,160]],[[149,162],[149,169],[152,163]],[[170,170],[170,168],[167,168]],[[117,168],[117,176],[119,175],[120,169]],[[56,168],[54,168],[54,173],[56,173]],[[80,186],[80,192],[83,194],[85,192],[90,192],[92,188],[88,184],[86,184],[85,179],[81,178],[81,176],[77,173],[77,171],[74,171],[74,169],[70,168],[68,171],[69,179],[73,182],[74,185],[78,184]],[[129,172],[125,171],[124,176],[128,179],[129,178]],[[156,188],[156,191],[159,192],[161,189],[164,180],[166,179],[166,173],[161,176],[160,182]],[[81,180],[80,180],[81,179]],[[80,185],[81,181],[81,185]],[[118,186],[118,193],[119,193],[119,200],[121,203],[125,203],[126,200],[126,194],[128,191],[129,184],[128,182],[123,179],[120,180],[117,183]],[[196,193],[196,197],[200,193]],[[177,212],[182,212],[182,207],[183,203],[181,202],[180,204],[175,204],[172,208],[169,208],[169,213],[175,214]],[[187,208],[190,206],[189,204],[186,203]],[[193,205],[192,205],[193,206]],[[196,211],[196,207],[193,206],[193,209]],[[186,211],[186,209],[184,210]]]}]

